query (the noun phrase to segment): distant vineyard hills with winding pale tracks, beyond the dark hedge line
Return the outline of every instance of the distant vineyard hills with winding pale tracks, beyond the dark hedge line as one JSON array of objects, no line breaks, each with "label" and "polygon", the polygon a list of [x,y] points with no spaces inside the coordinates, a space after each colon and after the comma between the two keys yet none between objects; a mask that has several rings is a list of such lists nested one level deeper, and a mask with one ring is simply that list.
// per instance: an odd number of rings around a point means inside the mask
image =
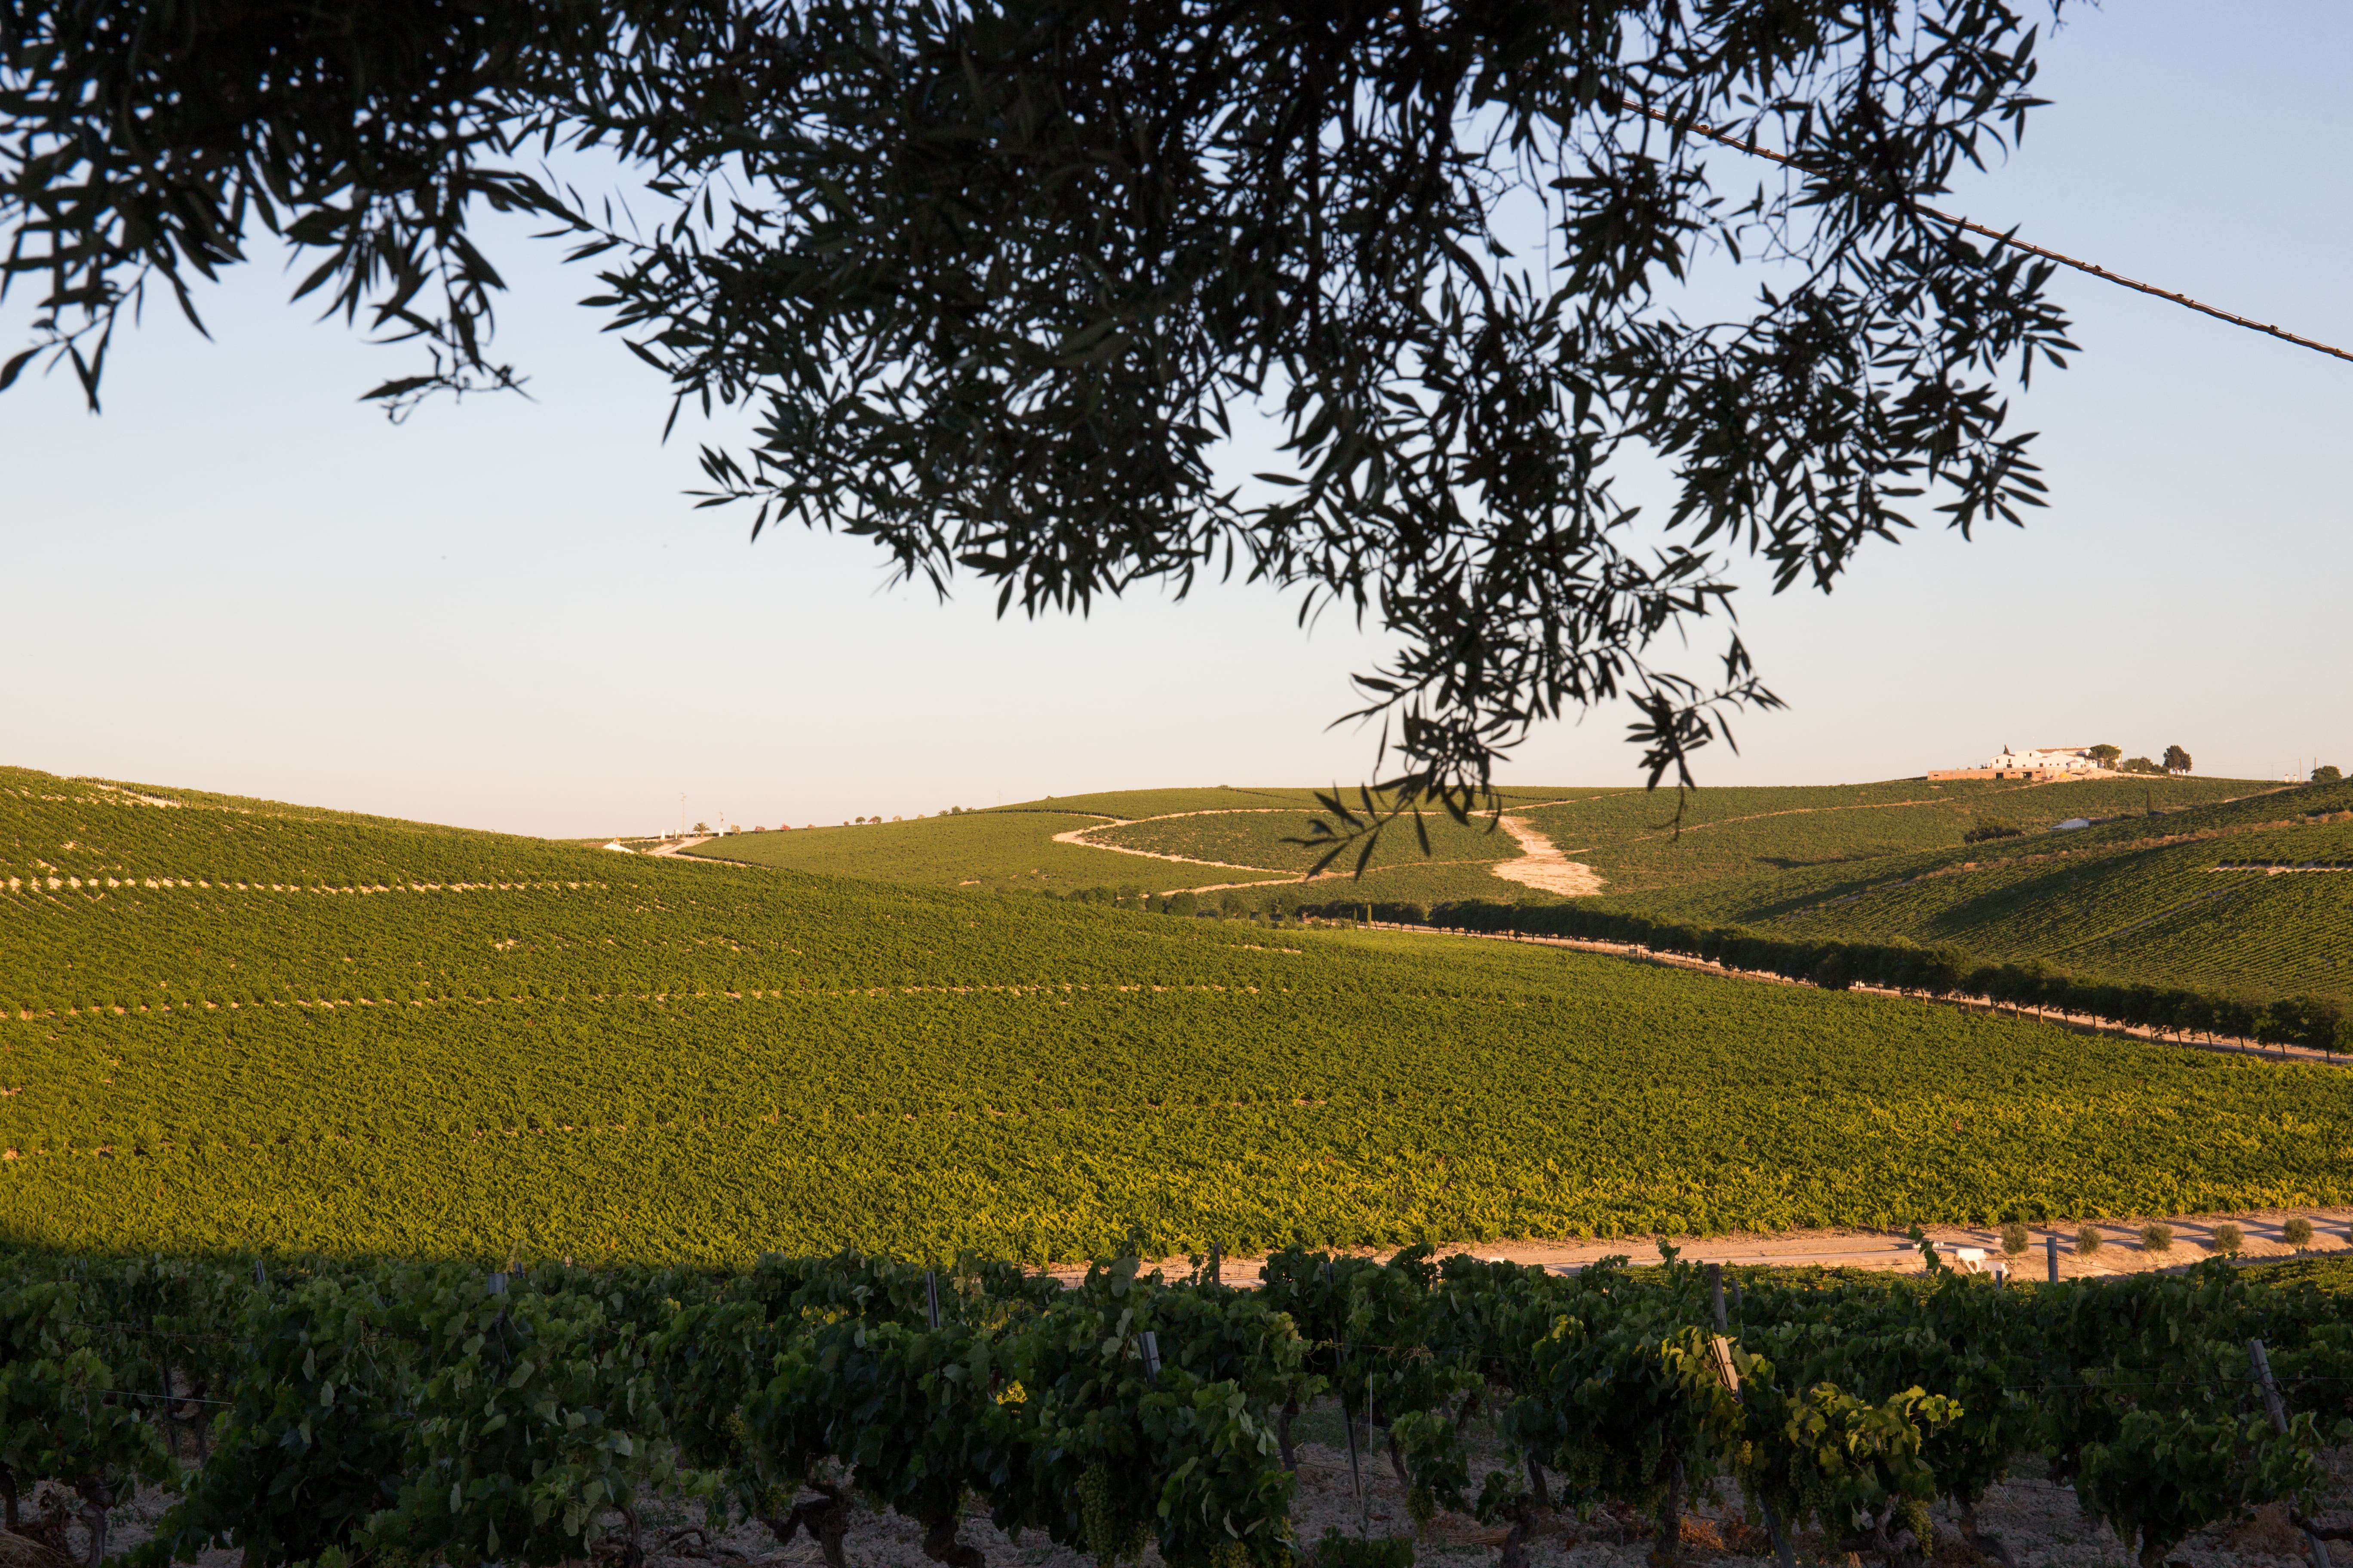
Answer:
[{"label": "distant vineyard hills with winding pale tracks, beyond the dark hedge line", "polygon": [[[1955,945],[2085,978],[2264,997],[2353,997],[2353,877],[2221,875],[2228,856],[2282,865],[2344,853],[2353,785],[2111,778],[2026,785],[1515,790],[1506,813],[1602,886],[1598,907],[1755,926],[1807,940]],[[878,882],[1073,893],[1245,884],[1264,905],[1313,867],[1311,790],[1139,790],[878,827],[748,835],[704,853]],[[2061,820],[2094,825],[2059,832]],[[1969,844],[1972,830],[2014,837]],[[1085,844],[1056,844],[1056,832]],[[1365,877],[1353,858],[1287,886],[1320,905],[1558,903],[1497,875],[1522,856],[1487,823],[1428,823],[1428,858],[1393,830]],[[2289,835],[2287,839],[2249,835]],[[2228,844],[2217,844],[2228,842]],[[1139,853],[1118,853],[1139,851]],[[1257,891],[1264,889],[1264,891]],[[1233,900],[1235,896],[1226,896]]]}]

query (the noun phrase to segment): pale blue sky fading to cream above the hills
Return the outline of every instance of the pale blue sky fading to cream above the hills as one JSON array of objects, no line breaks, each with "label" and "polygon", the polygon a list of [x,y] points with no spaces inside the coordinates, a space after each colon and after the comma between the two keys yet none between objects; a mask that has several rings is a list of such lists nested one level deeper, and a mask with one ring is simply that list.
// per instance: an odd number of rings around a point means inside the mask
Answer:
[{"label": "pale blue sky fading to cream above the hills", "polygon": [[[2353,346],[2353,7],[2068,7],[2021,155],[1953,202]],[[1355,780],[1327,731],[1374,644],[1261,590],[995,621],[887,590],[866,548],[696,512],[692,425],[513,244],[536,402],[355,395],[393,374],[273,263],[120,341],[108,409],[0,397],[0,762],[518,832],[687,813],[826,823],[1082,790]],[[2353,364],[2078,275],[2085,355],[2019,402],[2054,505],[1922,529],[1831,599],[1744,595],[1791,712],[1708,783],[1918,773],[2005,743],[2181,743],[2202,773],[2353,766]],[[16,336],[12,306],[0,327]],[[1508,778],[1624,783],[1624,715]]]}]

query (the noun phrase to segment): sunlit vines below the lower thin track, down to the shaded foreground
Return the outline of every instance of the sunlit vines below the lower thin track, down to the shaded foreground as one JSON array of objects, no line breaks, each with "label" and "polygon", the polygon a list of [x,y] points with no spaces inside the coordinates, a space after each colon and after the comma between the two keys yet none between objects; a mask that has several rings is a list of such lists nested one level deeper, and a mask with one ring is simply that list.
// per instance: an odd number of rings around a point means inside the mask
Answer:
[{"label": "sunlit vines below the lower thin track, down to the shaded foreground", "polygon": [[[1115,969],[1115,926],[1212,924],[1071,914],[1106,940],[1073,943],[1080,971]],[[1005,914],[1007,933],[1028,924]],[[1139,969],[1174,969],[1207,936],[1146,936]],[[2353,1201],[2353,1077],[2318,1065],[2085,1048],[2031,1020],[1513,943],[1245,936],[1268,952],[1200,954],[1233,964],[1212,971],[1226,990],[0,1020],[0,1229],[71,1248],[525,1244],[718,1265]],[[351,997],[344,976],[313,994]],[[553,990],[529,966],[513,978]],[[82,985],[54,980],[33,999]]]}]

